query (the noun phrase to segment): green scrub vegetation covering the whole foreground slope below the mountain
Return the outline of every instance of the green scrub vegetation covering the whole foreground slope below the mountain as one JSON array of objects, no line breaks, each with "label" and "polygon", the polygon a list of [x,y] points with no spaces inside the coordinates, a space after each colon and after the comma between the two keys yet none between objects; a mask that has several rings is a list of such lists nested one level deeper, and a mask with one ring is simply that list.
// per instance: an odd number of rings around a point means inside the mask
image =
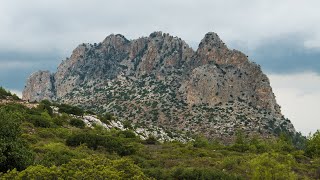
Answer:
[{"label": "green scrub vegetation covering the whole foreground slope below the mountain", "polygon": [[263,139],[239,131],[228,145],[202,136],[188,143],[160,143],[153,136],[141,140],[132,130],[83,126],[66,111],[53,113],[50,106],[47,101],[32,109],[0,105],[0,179],[320,177],[320,131],[308,139],[285,134]]}]

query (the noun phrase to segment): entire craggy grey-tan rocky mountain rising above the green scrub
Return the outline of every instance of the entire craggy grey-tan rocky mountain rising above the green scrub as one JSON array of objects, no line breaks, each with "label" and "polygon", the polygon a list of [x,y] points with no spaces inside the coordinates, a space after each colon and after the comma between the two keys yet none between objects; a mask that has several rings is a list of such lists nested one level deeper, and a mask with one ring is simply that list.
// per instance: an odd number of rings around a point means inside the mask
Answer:
[{"label": "entire craggy grey-tan rocky mountain rising above the green scrub", "polygon": [[260,66],[207,33],[196,51],[162,32],[81,44],[56,73],[34,73],[23,99],[113,112],[135,124],[231,137],[236,129],[295,132]]}]

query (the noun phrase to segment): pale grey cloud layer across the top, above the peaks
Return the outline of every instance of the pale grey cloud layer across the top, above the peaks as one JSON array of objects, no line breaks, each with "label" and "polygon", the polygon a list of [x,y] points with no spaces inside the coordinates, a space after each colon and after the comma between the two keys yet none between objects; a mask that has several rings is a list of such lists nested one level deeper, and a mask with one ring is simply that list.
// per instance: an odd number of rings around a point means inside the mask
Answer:
[{"label": "pale grey cloud layer across the top, above the peaks", "polygon": [[316,0],[11,0],[0,3],[0,46],[70,50],[110,33],[137,38],[155,30],[188,42],[215,31],[227,42],[248,41],[250,46],[277,35],[302,33],[304,41],[316,46],[319,6]]}]

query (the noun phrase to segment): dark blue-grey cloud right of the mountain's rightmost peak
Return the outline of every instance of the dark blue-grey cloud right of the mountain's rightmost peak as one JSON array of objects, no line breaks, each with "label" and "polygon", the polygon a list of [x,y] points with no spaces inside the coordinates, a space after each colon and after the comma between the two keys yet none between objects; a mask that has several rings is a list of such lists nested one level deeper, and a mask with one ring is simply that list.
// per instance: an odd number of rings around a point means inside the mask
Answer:
[{"label": "dark blue-grey cloud right of the mountain's rightmost peak", "polygon": [[247,50],[247,54],[269,73],[288,74],[307,71],[320,74],[320,50],[304,47],[299,35],[264,41],[262,45]]}]

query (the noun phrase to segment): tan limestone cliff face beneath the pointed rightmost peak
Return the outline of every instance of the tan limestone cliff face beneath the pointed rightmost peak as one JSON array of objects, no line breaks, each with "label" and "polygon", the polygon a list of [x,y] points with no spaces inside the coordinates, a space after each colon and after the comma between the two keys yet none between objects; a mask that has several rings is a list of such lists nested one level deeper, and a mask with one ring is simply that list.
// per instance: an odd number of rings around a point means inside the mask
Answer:
[{"label": "tan limestone cliff face beneath the pointed rightmost peak", "polygon": [[[208,33],[193,58],[190,103],[211,105],[228,101],[245,101],[259,109],[281,114],[268,77],[247,56],[229,50],[217,34]],[[209,85],[208,88],[203,88]],[[197,95],[193,95],[194,93]],[[209,98],[208,98],[209,97]]]}]

